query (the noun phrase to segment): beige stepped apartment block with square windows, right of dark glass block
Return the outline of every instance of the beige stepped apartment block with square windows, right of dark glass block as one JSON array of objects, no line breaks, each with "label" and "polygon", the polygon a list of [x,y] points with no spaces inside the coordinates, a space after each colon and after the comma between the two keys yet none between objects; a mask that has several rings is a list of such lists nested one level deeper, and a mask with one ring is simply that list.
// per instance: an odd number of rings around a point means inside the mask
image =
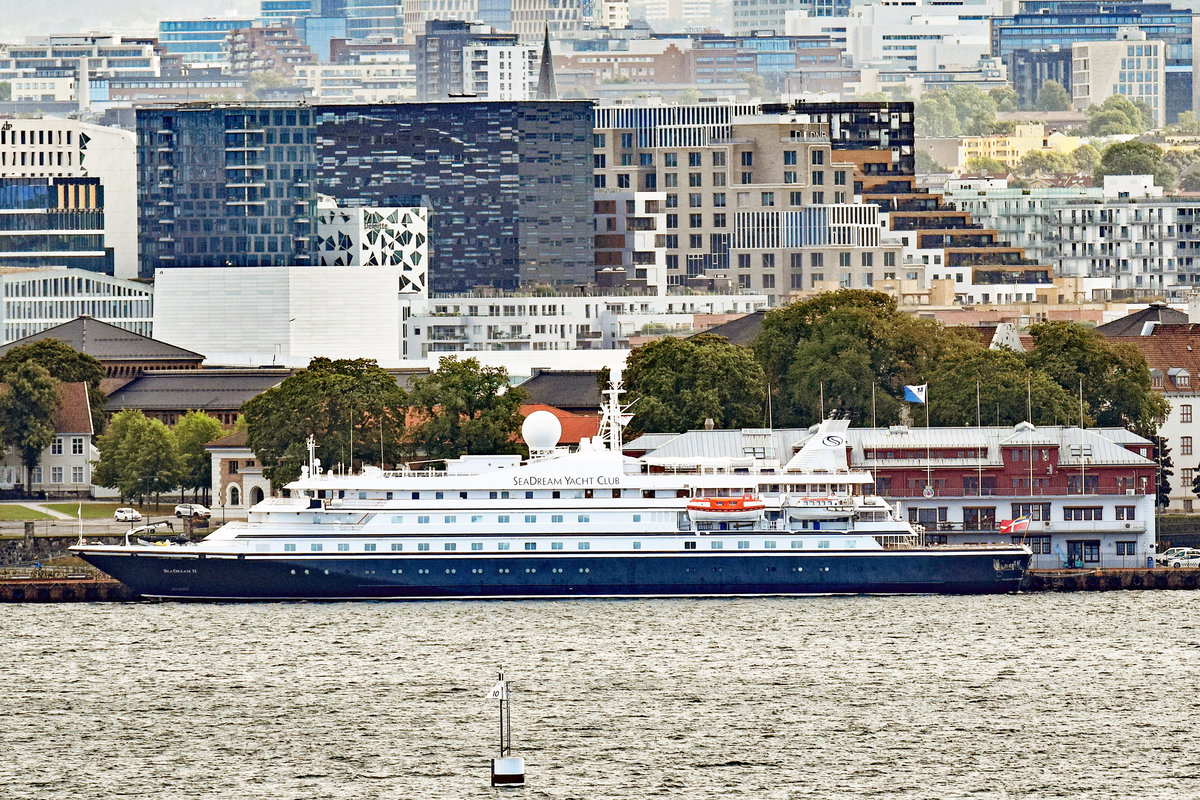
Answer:
[{"label": "beige stepped apartment block with square windows, right of dark glass block", "polygon": [[745,114],[721,126],[678,107],[643,126],[640,109],[622,110],[599,116],[598,197],[661,193],[668,287],[722,275],[780,305],[818,285],[905,277],[900,242],[881,240],[878,206],[854,196],[854,166],[834,162],[824,125]]}]

